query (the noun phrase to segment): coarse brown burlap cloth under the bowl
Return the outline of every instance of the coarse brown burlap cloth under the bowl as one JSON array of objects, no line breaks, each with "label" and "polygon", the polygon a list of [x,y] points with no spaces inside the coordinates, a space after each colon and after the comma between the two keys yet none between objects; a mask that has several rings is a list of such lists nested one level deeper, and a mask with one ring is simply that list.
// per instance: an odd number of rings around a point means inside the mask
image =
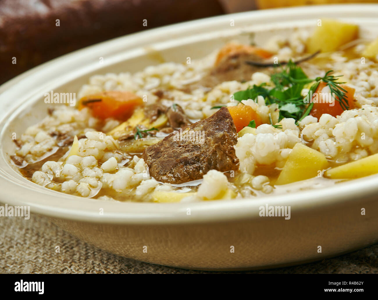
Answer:
[{"label": "coarse brown burlap cloth under the bowl", "polygon": [[[60,253],[55,246],[60,246]],[[142,263],[71,236],[48,218],[0,217],[1,273],[210,273]],[[247,272],[246,272],[247,273]],[[378,244],[322,262],[248,273],[376,273]]]}]

